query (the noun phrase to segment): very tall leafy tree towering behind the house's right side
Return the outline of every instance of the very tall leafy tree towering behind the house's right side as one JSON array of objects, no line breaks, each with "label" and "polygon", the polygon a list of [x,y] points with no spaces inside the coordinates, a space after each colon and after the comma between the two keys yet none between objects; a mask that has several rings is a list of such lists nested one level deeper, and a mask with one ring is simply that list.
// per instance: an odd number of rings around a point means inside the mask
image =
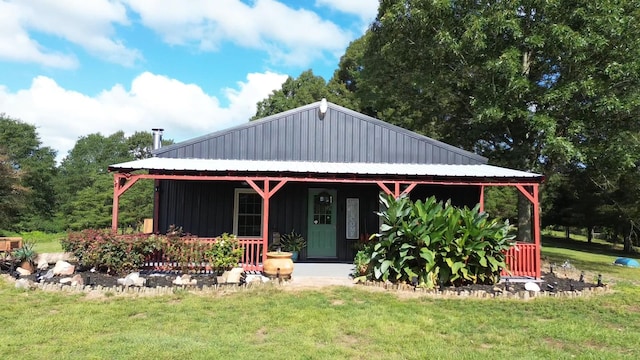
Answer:
[{"label": "very tall leafy tree towering behind the house's right side", "polygon": [[632,0],[385,0],[357,95],[496,164],[616,183],[638,163],[639,20]]}]

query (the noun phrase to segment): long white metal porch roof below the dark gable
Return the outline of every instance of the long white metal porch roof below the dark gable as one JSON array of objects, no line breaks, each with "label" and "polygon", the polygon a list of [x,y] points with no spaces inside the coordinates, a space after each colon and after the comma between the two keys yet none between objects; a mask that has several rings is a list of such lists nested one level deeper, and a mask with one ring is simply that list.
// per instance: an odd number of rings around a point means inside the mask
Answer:
[{"label": "long white metal porch roof below the dark gable", "polygon": [[541,174],[498,166],[447,164],[333,163],[221,159],[148,158],[109,166],[110,171],[159,170],[177,172],[266,172],[342,175],[401,175],[456,178],[511,178],[541,181]]}]

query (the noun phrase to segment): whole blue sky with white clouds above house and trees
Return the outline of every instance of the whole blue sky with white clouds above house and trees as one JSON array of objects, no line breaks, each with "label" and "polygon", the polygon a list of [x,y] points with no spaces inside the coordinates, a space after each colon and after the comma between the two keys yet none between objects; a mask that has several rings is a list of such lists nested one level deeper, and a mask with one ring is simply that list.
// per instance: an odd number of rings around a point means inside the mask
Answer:
[{"label": "whole blue sky with white clouds above house and trees", "polygon": [[[91,133],[186,140],[248,121],[287,76],[328,80],[378,0],[0,0],[0,113],[63,158]],[[318,99],[319,100],[319,99]]]}]

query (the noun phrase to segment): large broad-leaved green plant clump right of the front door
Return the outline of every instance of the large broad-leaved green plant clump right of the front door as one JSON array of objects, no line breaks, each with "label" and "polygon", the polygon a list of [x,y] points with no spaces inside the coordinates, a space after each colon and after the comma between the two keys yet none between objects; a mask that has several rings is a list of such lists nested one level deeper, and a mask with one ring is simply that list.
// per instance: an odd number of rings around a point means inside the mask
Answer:
[{"label": "large broad-leaved green plant clump right of the front door", "polygon": [[383,223],[365,251],[375,279],[438,284],[496,283],[506,267],[504,251],[512,246],[508,221],[456,208],[430,197],[413,203],[408,197],[380,195],[387,209]]}]

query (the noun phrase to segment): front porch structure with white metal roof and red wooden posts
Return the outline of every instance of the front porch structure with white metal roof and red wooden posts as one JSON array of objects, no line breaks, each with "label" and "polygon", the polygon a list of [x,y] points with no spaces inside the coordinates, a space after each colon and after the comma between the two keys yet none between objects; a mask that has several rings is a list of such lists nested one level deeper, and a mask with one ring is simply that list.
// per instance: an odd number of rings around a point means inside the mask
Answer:
[{"label": "front porch structure with white metal roof and red wooden posts", "polygon": [[[147,161],[148,160],[148,161]],[[464,166],[465,172],[460,172],[460,167],[454,169],[447,165],[420,165],[419,169],[411,169],[412,164],[384,164],[384,168],[379,168],[381,164],[313,164],[314,168],[300,168],[287,162],[248,162],[258,164],[246,164],[242,169],[237,169],[237,163],[234,165],[235,171],[229,171],[227,168],[224,172],[220,171],[220,164],[215,165],[211,162],[214,160],[198,161],[202,169],[196,166],[176,167],[175,164],[167,166],[177,159],[145,159],[132,163],[117,164],[110,167],[114,174],[114,198],[113,198],[113,219],[112,230],[118,229],[118,208],[120,196],[138,180],[151,180],[157,185],[161,182],[211,182],[214,184],[223,183],[239,183],[250,188],[259,197],[261,201],[261,218],[260,218],[260,236],[259,237],[243,237],[238,236],[240,246],[244,249],[242,257],[243,268],[247,271],[261,271],[262,264],[266,259],[266,252],[269,244],[272,242],[274,229],[271,227],[270,217],[277,211],[273,209],[273,198],[287,184],[303,184],[331,188],[332,186],[369,186],[378,189],[377,191],[392,194],[395,197],[401,194],[411,194],[416,189],[425,186],[444,186],[455,192],[456,189],[473,187],[477,189],[477,197],[474,203],[480,203],[481,209],[484,203],[484,189],[488,186],[513,186],[517,188],[531,202],[532,212],[532,234],[533,242],[518,242],[516,246],[507,253],[507,264],[509,271],[514,276],[527,276],[540,278],[540,224],[539,224],[539,199],[538,189],[539,177],[532,176],[534,174],[523,173],[511,170],[506,172],[505,169],[491,167],[489,165],[467,165]],[[185,160],[181,160],[182,163]],[[143,162],[143,163],[141,163]],[[209,164],[203,164],[209,163]],[[219,162],[219,161],[218,161]],[[268,163],[268,164],[264,164]],[[135,164],[136,166],[132,166]],[[284,166],[283,164],[289,164]],[[305,163],[309,164],[309,163]],[[188,164],[187,164],[188,165]],[[253,165],[253,167],[251,166]],[[228,164],[225,164],[226,168]],[[275,170],[267,170],[274,169]],[[278,166],[281,168],[278,169]],[[208,169],[207,169],[208,168]],[[146,174],[135,173],[135,170],[148,169]],[[328,172],[327,169],[332,169]],[[366,169],[366,170],[365,170]],[[498,170],[496,170],[498,169]],[[213,171],[212,171],[213,170]],[[279,171],[278,171],[279,170]],[[410,170],[410,171],[407,171]],[[455,171],[454,171],[455,170]],[[469,171],[475,170],[475,171]],[[458,171],[458,173],[456,173]],[[395,172],[395,173],[394,173]],[[404,175],[398,175],[402,174]],[[473,174],[473,175],[471,175]],[[523,175],[526,174],[526,175]],[[478,176],[480,175],[480,176]],[[510,175],[510,176],[509,176]],[[161,206],[172,206],[172,204],[161,204],[160,191],[156,188],[155,195],[155,211],[154,211],[154,232],[159,233],[159,209]],[[342,206],[342,205],[341,205]],[[308,211],[311,208],[303,207]],[[345,216],[345,212],[341,213]],[[346,226],[346,225],[345,225]],[[306,229],[306,235],[311,230]],[[341,227],[340,230],[345,230]],[[371,233],[377,231],[376,228],[368,230]],[[362,233],[362,231],[359,231]],[[194,234],[199,235],[199,234]],[[308,259],[314,261],[317,259]],[[331,261],[331,258],[324,259]],[[334,259],[339,260],[339,259]]]}]

